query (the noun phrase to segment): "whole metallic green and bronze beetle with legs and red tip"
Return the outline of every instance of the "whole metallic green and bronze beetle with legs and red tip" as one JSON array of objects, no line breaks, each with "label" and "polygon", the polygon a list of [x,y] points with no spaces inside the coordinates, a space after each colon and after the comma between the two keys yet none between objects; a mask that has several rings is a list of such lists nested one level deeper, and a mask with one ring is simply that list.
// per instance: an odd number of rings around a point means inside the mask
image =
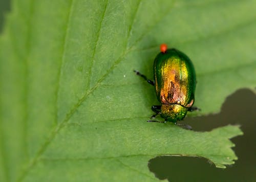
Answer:
[{"label": "whole metallic green and bronze beetle with legs and red tip", "polygon": [[134,72],[155,86],[156,96],[161,103],[152,106],[155,115],[151,118],[161,115],[164,121],[148,122],[176,123],[186,116],[187,111],[199,110],[192,107],[195,102],[196,73],[191,60],[184,53],[167,49],[166,44],[161,44],[160,50],[154,61],[154,81],[138,71]]}]

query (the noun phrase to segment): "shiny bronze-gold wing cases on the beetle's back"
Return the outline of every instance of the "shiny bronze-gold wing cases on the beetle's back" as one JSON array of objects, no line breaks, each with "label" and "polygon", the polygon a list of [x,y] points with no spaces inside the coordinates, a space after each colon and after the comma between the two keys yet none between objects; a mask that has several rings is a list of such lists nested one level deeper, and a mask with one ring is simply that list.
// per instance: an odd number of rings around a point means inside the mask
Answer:
[{"label": "shiny bronze-gold wing cases on the beetle's back", "polygon": [[189,67],[186,60],[180,57],[176,50],[168,51],[172,51],[174,54],[164,57],[165,59],[162,58],[154,66],[156,94],[162,104],[180,104],[190,107],[193,105],[194,99],[191,97],[193,93],[188,87],[194,84],[191,83],[194,80],[189,80]]}]

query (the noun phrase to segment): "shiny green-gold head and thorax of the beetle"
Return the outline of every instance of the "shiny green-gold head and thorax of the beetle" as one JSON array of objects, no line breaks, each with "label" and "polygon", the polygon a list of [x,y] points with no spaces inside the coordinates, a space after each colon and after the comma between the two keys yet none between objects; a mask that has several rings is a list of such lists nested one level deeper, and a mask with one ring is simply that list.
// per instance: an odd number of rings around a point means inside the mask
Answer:
[{"label": "shiny green-gold head and thorax of the beetle", "polygon": [[182,120],[187,113],[187,108],[179,104],[163,104],[161,106],[161,117],[166,121],[174,122]]}]

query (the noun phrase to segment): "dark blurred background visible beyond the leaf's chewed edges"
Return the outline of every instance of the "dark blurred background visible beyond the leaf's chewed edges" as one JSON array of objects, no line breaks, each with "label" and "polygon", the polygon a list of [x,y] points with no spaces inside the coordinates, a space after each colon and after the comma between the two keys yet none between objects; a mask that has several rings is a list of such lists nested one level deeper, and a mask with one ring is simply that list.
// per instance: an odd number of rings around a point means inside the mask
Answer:
[{"label": "dark blurred background visible beyond the leaf's chewed edges", "polygon": [[[10,11],[10,0],[0,1],[0,33],[4,15]],[[255,85],[256,86],[256,85]],[[203,108],[202,108],[203,109]],[[159,156],[148,167],[159,179],[169,181],[256,181],[256,95],[248,89],[237,90],[222,105],[216,115],[186,118],[196,131],[208,131],[227,124],[239,124],[243,136],[232,139],[239,160],[227,169],[219,169],[205,158]]]}]

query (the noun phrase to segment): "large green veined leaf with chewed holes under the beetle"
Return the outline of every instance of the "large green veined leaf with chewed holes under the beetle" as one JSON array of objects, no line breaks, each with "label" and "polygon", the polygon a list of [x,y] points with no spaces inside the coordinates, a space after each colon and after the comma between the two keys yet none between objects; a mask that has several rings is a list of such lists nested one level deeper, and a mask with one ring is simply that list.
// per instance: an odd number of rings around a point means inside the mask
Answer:
[{"label": "large green veined leaf with chewed holes under the beetle", "polygon": [[[218,112],[256,84],[255,1],[18,1],[0,38],[1,181],[150,181],[158,155],[237,160],[238,126],[147,123],[159,44],[186,53],[196,103]],[[239,12],[239,13],[238,13]],[[189,117],[189,116],[188,116]],[[191,123],[193,126],[193,123]]]}]

